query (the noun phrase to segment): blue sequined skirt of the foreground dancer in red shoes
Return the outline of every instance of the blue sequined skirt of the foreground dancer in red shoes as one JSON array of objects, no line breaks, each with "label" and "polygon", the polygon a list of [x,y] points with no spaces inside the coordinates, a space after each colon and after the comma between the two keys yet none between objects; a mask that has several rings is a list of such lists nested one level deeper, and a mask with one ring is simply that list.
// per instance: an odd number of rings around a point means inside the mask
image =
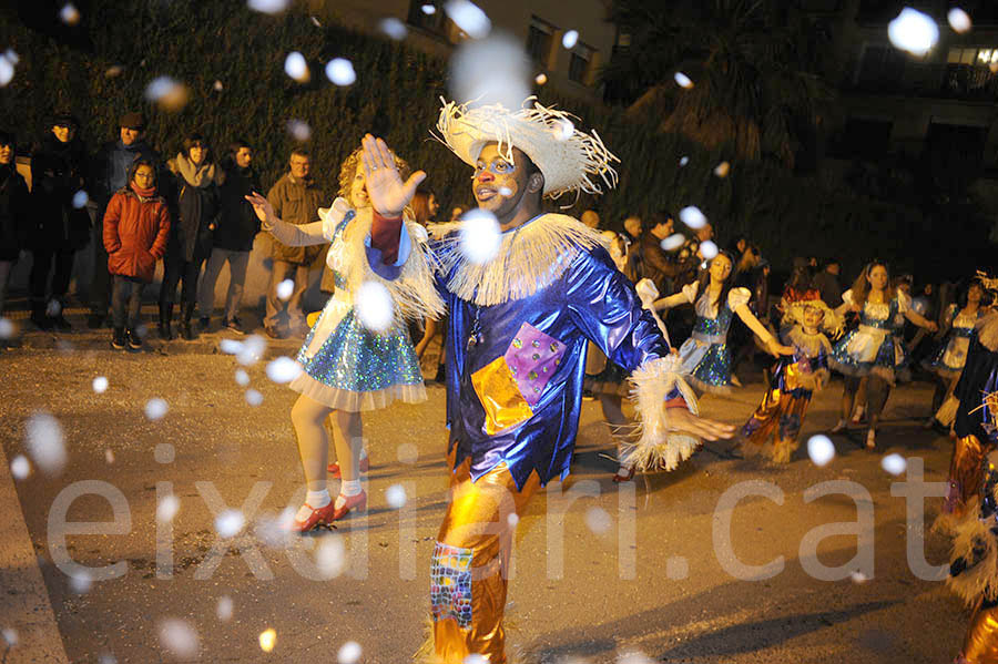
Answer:
[{"label": "blue sequined skirt of the foreground dancer in red shoes", "polygon": [[335,410],[358,412],[385,408],[396,399],[426,400],[422,371],[405,326],[396,324],[384,334],[373,334],[360,325],[352,306],[335,298],[315,321],[296,359],[304,371],[289,387]]}]

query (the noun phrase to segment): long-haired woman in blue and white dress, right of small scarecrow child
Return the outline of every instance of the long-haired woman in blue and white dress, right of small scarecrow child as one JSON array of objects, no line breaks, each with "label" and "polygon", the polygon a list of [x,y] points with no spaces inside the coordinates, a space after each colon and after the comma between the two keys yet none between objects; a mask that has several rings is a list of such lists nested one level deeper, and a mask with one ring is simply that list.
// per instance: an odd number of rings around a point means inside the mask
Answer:
[{"label": "long-haired woman in blue and white dress, right of small scarecrow child", "polygon": [[887,266],[874,261],[863,268],[853,287],[842,295],[843,304],[836,309],[842,315],[846,309],[859,314],[859,327],[843,337],[832,350],[828,365],[845,377],[842,394],[842,417],[832,429],[833,433],[845,430],[849,413],[853,412],[859,381],[868,376],[866,389],[869,429],[866,447],[876,447],[877,422],[890,396],[896,380],[896,371],[907,357],[894,330],[895,318],[904,316],[915,325],[931,331],[936,324],[926,320],[910,307],[912,300],[904,293],[889,287]]}]

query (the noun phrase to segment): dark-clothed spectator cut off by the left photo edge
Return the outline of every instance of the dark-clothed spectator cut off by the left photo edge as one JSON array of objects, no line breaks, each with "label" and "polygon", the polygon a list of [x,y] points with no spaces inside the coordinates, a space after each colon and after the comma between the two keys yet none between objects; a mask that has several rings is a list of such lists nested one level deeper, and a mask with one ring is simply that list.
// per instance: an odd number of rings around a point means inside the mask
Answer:
[{"label": "dark-clothed spectator cut off by the left photo edge", "polygon": [[31,219],[28,184],[14,162],[14,136],[0,131],[0,316],[7,299],[10,270],[26,246]]}]

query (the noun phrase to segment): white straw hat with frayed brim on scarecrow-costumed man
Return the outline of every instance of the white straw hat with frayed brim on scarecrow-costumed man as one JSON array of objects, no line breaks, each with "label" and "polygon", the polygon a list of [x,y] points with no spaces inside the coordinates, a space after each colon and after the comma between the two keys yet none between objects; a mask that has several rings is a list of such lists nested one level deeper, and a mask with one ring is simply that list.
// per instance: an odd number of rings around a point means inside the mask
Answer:
[{"label": "white straw hat with frayed brim on scarecrow-costumed man", "polygon": [[549,198],[567,192],[602,194],[602,185],[617,186],[617,171],[610,164],[620,160],[607,150],[599,134],[580,132],[572,122],[578,118],[542,106],[536,96],[527,98],[523,108],[515,112],[501,104],[469,108],[440,101],[444,108],[435,136],[470,166],[486,143],[498,142],[510,163],[516,146],[537,164]]}]

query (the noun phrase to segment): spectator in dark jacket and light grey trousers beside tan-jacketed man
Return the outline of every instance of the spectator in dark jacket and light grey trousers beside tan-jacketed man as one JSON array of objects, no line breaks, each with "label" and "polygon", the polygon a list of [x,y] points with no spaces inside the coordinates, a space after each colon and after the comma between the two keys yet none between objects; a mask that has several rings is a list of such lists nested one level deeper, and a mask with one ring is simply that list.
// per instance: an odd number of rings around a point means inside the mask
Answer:
[{"label": "spectator in dark jacket and light grey trousers beside tan-jacketed man", "polygon": [[236,139],[228,146],[228,155],[221,165],[221,212],[212,237],[212,255],[201,277],[197,308],[201,311],[201,327],[207,329],[215,305],[215,283],[222,266],[228,263],[228,290],[222,326],[242,335],[246,330],[240,320],[240,304],[243,302],[253,238],[259,233],[259,219],[253,212],[253,205],[246,201],[246,196],[261,190],[259,176],[253,168],[253,146]]}]

